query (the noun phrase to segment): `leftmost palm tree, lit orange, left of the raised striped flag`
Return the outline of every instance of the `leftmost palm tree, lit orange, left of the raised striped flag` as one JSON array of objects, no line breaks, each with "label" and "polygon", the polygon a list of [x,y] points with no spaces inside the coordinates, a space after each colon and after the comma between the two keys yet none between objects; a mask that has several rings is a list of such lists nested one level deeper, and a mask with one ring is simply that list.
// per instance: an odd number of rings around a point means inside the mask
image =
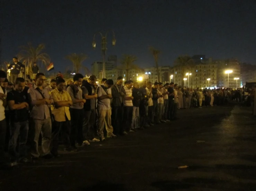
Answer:
[{"label": "leftmost palm tree, lit orange, left of the raised striped flag", "polygon": [[44,63],[45,68],[50,63],[50,56],[43,52],[45,44],[38,44],[37,47],[33,47],[32,43],[28,43],[27,46],[21,46],[20,52],[17,57],[19,61],[23,61],[26,64],[26,73],[32,73],[32,67],[34,62],[41,61]]}]

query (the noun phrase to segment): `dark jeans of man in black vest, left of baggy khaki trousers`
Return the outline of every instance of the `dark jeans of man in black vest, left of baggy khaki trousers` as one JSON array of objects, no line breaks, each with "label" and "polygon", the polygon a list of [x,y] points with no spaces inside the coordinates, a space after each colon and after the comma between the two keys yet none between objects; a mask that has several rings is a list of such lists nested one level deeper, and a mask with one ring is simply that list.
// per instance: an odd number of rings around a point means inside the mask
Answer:
[{"label": "dark jeans of man in black vest, left of baggy khaki trousers", "polygon": [[83,118],[83,140],[92,140],[95,138],[94,134],[94,124],[96,118],[96,110],[91,109],[90,111],[85,111],[85,117]]}]

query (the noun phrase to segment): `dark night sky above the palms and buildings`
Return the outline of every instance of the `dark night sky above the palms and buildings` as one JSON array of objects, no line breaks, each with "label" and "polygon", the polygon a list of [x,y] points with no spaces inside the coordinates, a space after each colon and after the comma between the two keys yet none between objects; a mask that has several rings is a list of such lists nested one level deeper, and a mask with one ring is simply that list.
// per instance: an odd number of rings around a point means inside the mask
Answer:
[{"label": "dark night sky above the palms and buildings", "polygon": [[[15,2],[15,3],[13,3]],[[27,42],[45,43],[57,70],[64,56],[86,53],[89,67],[101,60],[97,31],[113,29],[107,54],[134,54],[141,67],[153,66],[148,46],[162,51],[160,65],[172,65],[180,54],[238,58],[256,64],[254,0],[24,0],[1,1],[2,58],[10,60]]]}]

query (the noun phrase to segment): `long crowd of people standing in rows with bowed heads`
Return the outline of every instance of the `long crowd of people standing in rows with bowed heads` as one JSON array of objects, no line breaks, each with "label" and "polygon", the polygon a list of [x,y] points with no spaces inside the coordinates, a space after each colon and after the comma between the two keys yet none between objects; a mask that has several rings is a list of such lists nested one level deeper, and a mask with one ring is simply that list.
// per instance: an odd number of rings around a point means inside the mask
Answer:
[{"label": "long crowd of people standing in rows with bowed heads", "polygon": [[36,73],[32,82],[17,77],[9,84],[6,78],[0,71],[0,161],[10,167],[60,157],[60,135],[64,150],[76,152],[106,138],[176,120],[177,109],[223,104],[230,92],[182,88],[173,82],[124,82],[123,77],[116,83],[103,79],[98,86],[96,76],[84,80],[80,73],[67,82],[58,76],[48,86],[43,73]]}]

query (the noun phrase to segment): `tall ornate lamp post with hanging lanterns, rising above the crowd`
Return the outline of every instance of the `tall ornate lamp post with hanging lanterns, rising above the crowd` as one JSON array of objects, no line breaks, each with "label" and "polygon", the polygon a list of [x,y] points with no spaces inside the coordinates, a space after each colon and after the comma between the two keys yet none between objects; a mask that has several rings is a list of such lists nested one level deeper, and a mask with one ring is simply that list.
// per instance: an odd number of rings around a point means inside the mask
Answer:
[{"label": "tall ornate lamp post with hanging lanterns, rising above the crowd", "polygon": [[[115,33],[113,30],[111,30],[111,31],[113,33],[112,45],[115,46],[115,44],[116,44]],[[101,32],[97,32],[97,33],[99,33],[101,36],[101,51],[102,51],[102,57],[103,57],[102,78],[105,78],[106,77],[105,56],[106,56],[106,51],[107,51],[107,33],[108,33],[108,31],[106,32],[105,35],[103,35]],[[96,47],[95,36],[97,33],[95,33],[93,36],[93,40],[92,40],[92,48],[93,49],[95,49],[95,47]]]}]

